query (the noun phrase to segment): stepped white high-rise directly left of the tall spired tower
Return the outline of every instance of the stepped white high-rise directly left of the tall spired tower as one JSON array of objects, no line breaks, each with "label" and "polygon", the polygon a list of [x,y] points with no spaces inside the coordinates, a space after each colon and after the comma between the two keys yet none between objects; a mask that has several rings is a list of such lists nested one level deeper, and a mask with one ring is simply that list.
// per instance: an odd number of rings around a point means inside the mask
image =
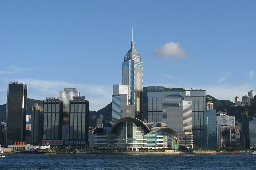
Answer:
[{"label": "stepped white high-rise directly left of the tall spired tower", "polygon": [[124,117],[135,117],[134,105],[129,105],[129,86],[128,85],[113,85],[112,95],[112,122]]}]

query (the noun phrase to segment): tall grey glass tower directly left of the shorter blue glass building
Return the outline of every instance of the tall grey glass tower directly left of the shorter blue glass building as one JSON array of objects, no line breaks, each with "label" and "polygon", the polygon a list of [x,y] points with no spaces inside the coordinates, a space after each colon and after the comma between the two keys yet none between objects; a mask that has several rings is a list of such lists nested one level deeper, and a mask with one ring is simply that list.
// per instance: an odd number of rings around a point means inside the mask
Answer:
[{"label": "tall grey glass tower directly left of the shorter blue glass building", "polygon": [[192,100],[193,143],[204,147],[204,110],[206,103],[205,90],[188,90]]}]

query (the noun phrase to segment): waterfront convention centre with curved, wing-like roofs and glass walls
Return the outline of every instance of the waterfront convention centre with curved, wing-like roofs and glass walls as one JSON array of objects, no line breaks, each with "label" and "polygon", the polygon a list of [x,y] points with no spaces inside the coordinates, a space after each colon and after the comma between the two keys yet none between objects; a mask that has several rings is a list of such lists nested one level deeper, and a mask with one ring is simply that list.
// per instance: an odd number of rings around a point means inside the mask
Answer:
[{"label": "waterfront convention centre with curved, wing-like roofs and glass walls", "polygon": [[167,128],[166,123],[143,123],[139,119],[125,117],[113,127],[97,128],[93,132],[94,146],[99,148],[173,148],[179,146],[177,133]]}]

